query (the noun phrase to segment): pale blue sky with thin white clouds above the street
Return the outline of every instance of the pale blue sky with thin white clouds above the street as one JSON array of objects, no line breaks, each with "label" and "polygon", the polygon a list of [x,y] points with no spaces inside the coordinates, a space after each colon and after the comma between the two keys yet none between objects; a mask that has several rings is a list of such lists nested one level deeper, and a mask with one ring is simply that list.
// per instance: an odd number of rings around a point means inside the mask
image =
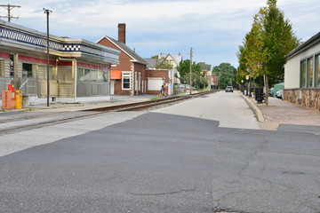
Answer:
[{"label": "pale blue sky with thin white clouds above the street", "polygon": [[[117,39],[118,23],[126,24],[126,45],[142,58],[178,54],[183,59],[237,67],[236,52],[252,28],[253,16],[267,0],[0,0],[20,5],[12,23],[50,34],[96,43],[102,36]],[[277,0],[295,35],[307,41],[320,31],[319,0]],[[0,7],[0,16],[7,15]],[[2,20],[7,20],[2,18]]]}]

